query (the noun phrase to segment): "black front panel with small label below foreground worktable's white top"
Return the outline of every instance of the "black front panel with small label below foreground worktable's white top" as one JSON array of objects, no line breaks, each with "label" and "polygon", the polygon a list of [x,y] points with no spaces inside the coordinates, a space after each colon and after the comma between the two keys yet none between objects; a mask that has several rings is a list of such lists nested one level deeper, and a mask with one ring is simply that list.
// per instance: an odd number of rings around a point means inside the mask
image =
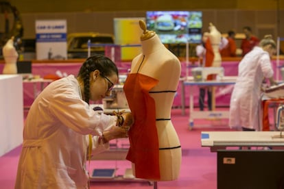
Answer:
[{"label": "black front panel with small label below foreground worktable's white top", "polygon": [[283,189],[283,150],[217,151],[218,189]]}]

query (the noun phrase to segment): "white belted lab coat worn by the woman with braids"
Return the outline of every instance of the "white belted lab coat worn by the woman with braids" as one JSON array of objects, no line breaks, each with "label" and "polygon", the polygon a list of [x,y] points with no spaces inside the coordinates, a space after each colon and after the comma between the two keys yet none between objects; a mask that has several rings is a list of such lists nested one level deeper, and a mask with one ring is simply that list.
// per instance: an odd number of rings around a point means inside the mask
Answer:
[{"label": "white belted lab coat worn by the woman with braids", "polygon": [[116,119],[100,116],[82,101],[73,75],[49,84],[25,122],[15,188],[86,188],[88,134],[93,135],[93,153],[108,149],[98,136]]}]

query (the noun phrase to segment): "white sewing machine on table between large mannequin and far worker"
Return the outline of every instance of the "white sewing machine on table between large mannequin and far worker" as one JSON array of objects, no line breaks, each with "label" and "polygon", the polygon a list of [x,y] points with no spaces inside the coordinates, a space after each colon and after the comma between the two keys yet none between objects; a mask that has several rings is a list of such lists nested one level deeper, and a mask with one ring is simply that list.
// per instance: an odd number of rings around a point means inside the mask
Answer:
[{"label": "white sewing machine on table between large mannequin and far worker", "polygon": [[223,67],[197,67],[192,68],[191,73],[194,81],[206,81],[208,75],[215,74],[222,79],[224,77]]}]

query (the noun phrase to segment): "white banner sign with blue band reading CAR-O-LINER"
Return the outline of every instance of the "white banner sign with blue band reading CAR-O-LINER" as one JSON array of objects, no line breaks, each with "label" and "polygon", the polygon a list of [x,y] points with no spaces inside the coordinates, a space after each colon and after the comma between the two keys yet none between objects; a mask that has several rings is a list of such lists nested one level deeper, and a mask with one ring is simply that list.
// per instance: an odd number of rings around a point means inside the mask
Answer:
[{"label": "white banner sign with blue band reading CAR-O-LINER", "polygon": [[67,59],[67,21],[36,21],[36,59]]}]

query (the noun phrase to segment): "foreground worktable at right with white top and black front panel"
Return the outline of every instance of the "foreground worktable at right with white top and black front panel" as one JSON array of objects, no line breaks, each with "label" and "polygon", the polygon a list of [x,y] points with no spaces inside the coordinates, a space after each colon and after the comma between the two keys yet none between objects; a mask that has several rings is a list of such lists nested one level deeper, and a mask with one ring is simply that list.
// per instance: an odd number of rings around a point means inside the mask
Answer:
[{"label": "foreground worktable at right with white top and black front panel", "polygon": [[284,137],[280,134],[280,131],[202,131],[202,147],[217,153],[217,188],[283,188]]}]

